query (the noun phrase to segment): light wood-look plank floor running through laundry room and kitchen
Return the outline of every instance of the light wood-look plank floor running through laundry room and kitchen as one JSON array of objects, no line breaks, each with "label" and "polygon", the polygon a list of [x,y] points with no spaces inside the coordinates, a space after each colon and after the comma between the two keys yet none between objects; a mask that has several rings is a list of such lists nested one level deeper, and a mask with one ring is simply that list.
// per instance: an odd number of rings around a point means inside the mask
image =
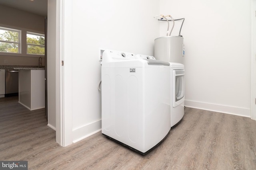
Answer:
[{"label": "light wood-look plank floor running through laundry room and kitchen", "polygon": [[163,143],[142,156],[101,132],[61,147],[44,109],[0,98],[0,160],[27,160],[29,170],[256,170],[256,121],[186,107]]}]

